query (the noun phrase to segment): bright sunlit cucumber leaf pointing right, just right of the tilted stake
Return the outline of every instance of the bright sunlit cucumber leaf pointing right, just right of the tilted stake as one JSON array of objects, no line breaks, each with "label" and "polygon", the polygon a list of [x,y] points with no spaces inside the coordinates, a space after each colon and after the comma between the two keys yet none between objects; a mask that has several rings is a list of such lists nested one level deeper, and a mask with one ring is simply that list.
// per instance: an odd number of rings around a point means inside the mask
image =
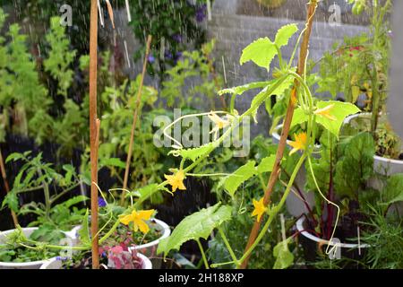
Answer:
[{"label": "bright sunlit cucumber leaf pointing right, just right of the tilted stake", "polygon": [[339,138],[340,127],[343,125],[343,121],[346,117],[350,115],[354,115],[360,112],[360,109],[356,107],[356,105],[349,102],[341,102],[336,100],[330,101],[319,101],[316,106],[318,109],[324,109],[330,105],[333,105],[333,108],[330,109],[330,115],[332,117],[336,117],[335,120],[331,120],[328,117],[323,117],[322,115],[316,116],[316,122],[321,124],[324,128],[330,131],[333,135],[336,135]]}]

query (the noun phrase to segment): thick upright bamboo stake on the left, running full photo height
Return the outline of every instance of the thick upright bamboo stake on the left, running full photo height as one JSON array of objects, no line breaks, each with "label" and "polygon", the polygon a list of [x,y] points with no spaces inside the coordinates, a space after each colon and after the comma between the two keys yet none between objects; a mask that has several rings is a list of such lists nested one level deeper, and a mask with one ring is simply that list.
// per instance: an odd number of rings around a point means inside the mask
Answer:
[{"label": "thick upright bamboo stake on the left, running full photo height", "polygon": [[91,239],[92,268],[99,269],[98,241],[98,146],[97,68],[98,68],[98,4],[91,0],[90,10],[90,165],[91,165]]}]

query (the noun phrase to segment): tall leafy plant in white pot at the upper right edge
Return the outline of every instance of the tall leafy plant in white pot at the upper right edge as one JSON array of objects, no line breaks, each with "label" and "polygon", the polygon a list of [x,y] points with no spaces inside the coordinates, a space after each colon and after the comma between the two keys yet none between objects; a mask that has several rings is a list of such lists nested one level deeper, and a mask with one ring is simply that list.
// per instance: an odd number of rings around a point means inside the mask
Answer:
[{"label": "tall leafy plant in white pot at the upper right edge", "polygon": [[[335,52],[322,59],[320,89],[332,96],[344,94],[348,102],[361,105],[364,113],[347,117],[348,135],[370,131],[376,143],[374,170],[382,175],[403,172],[402,143],[390,128],[386,115],[390,65],[391,1],[350,0],[353,12],[372,16],[371,36],[345,39]],[[335,73],[337,71],[337,73]]]}]

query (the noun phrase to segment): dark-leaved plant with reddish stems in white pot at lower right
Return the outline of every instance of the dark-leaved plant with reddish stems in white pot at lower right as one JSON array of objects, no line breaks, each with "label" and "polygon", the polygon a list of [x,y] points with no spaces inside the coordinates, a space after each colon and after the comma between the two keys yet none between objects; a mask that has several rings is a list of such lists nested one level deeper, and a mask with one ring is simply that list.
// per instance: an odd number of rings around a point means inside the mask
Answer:
[{"label": "dark-leaved plant with reddish stems in white pot at lower right", "polygon": [[309,261],[316,259],[318,247],[326,247],[327,254],[339,248],[343,257],[363,259],[364,248],[370,246],[361,241],[360,233],[370,232],[365,224],[369,204],[379,204],[386,214],[401,200],[400,177],[389,178],[381,194],[368,185],[373,176],[374,146],[370,133],[339,141],[332,135],[322,137],[321,158],[312,160],[306,184],[307,190],[319,193],[315,208],[296,222]]}]

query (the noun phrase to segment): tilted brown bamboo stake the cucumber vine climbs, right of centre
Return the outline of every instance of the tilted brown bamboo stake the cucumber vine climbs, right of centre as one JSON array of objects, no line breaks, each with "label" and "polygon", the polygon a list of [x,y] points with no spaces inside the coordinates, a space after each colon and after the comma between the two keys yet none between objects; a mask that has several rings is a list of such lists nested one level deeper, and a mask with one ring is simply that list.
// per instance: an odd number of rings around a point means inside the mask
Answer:
[{"label": "tilted brown bamboo stake the cucumber vine climbs, right of centre", "polygon": [[[306,16],[306,30],[304,31],[304,39],[303,39],[303,42],[301,43],[301,49],[300,49],[300,54],[299,54],[299,59],[298,59],[297,73],[299,75],[304,75],[304,66],[305,66],[304,64],[306,61],[306,57],[308,56],[309,39],[311,37],[312,26],[313,26],[313,15],[316,12],[317,3],[318,3],[318,0],[311,0],[309,2],[308,13]],[[296,92],[297,92],[298,86],[299,86],[299,83],[297,81],[295,81],[294,89],[291,91],[291,96],[290,96],[290,99],[288,102],[287,113],[286,113],[286,117],[284,119],[283,130],[281,132],[281,137],[280,137],[280,141],[279,141],[279,149],[277,150],[277,153],[276,153],[276,161],[274,163],[273,170],[270,174],[268,186],[264,192],[263,203],[265,206],[270,204],[270,196],[273,191],[273,187],[275,186],[277,180],[279,179],[280,163],[281,163],[281,159],[283,158],[283,155],[284,155],[284,150],[286,148],[287,137],[288,137],[289,129],[290,129],[291,122],[292,122],[292,119],[294,116],[294,109],[296,109],[296,99],[297,99]],[[261,218],[261,221],[254,222],[253,229],[251,230],[251,234],[249,235],[249,239],[246,244],[245,250],[248,250],[253,245],[254,241],[256,240],[256,237],[258,236],[259,230],[261,229],[261,225],[262,225],[262,218]],[[248,262],[249,262],[249,257],[245,258],[244,262],[241,263],[241,265],[240,265],[241,269],[244,269],[247,267]]]}]

